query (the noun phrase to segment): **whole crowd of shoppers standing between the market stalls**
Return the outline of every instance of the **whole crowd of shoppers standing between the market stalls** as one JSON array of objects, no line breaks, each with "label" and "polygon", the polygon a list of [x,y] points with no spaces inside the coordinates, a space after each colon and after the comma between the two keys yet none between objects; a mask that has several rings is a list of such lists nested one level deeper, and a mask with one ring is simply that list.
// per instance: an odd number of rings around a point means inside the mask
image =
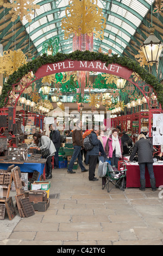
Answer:
[{"label": "whole crowd of shoppers standing between the market stalls", "polygon": [[[46,157],[46,179],[52,178],[52,156],[54,156],[54,168],[59,168],[58,153],[61,143],[66,141],[66,137],[72,137],[74,151],[70,164],[68,165],[67,173],[76,173],[73,171],[73,164],[78,159],[81,171],[87,172],[89,170],[89,180],[97,181],[98,179],[95,177],[95,170],[98,161],[106,162],[109,160],[111,166],[118,167],[120,158],[131,153],[128,161],[133,161],[135,155],[138,157],[140,167],[140,190],[144,191],[146,187],[146,166],[150,175],[152,190],[156,190],[153,172],[153,145],[146,139],[145,135],[140,134],[134,145],[133,140],[128,136],[127,131],[122,131],[122,137],[119,136],[121,133],[120,126],[116,126],[116,129],[112,127],[109,133],[106,133],[105,130],[99,131],[95,129],[94,126],[92,126],[92,129],[83,132],[82,122],[80,120],[77,121],[73,131],[65,131],[64,136],[60,135],[60,131],[57,129],[56,124],[52,124],[50,129],[51,132],[49,137],[40,133],[35,133],[33,135],[37,150],[41,152],[49,150],[49,155]],[[83,141],[88,135],[91,138],[92,148],[90,150],[85,150]],[[89,169],[85,168],[83,162],[85,162],[86,166],[89,164]]]}]

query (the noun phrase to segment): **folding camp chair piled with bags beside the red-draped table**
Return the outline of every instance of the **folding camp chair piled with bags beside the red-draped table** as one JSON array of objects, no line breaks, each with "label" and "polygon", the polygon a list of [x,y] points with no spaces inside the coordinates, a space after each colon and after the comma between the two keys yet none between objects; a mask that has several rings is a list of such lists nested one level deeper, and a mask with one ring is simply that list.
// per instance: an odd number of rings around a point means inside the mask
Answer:
[{"label": "folding camp chair piled with bags beside the red-draped table", "polygon": [[[120,170],[120,168],[123,168],[123,170]],[[118,163],[118,173],[121,173],[120,177],[115,176],[115,170],[112,169],[112,166],[108,164],[107,171],[105,176],[102,177],[102,190],[106,187],[106,190],[110,192],[112,188],[117,187],[120,190],[124,191],[123,186],[120,186],[120,183],[124,181],[124,178],[126,177],[126,163],[123,161],[120,161]],[[109,190],[109,183],[111,183],[113,186]]]}]

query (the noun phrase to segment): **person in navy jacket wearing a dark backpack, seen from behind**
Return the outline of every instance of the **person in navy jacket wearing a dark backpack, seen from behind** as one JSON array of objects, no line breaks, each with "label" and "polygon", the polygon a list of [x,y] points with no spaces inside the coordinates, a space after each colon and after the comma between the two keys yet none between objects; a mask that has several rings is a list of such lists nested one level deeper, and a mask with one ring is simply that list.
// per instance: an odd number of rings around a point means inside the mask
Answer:
[{"label": "person in navy jacket wearing a dark backpack, seen from behind", "polygon": [[93,130],[90,133],[92,149],[87,150],[87,154],[89,155],[89,180],[97,181],[98,179],[95,177],[96,164],[99,156],[99,139],[97,135],[99,130]]}]

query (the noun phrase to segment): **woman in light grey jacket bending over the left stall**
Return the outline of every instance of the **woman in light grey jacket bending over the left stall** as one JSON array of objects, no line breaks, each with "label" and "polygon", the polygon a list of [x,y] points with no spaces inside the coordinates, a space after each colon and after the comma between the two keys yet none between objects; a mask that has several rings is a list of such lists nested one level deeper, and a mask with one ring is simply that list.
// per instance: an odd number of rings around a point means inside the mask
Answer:
[{"label": "woman in light grey jacket bending over the left stall", "polygon": [[48,136],[34,133],[34,143],[37,150],[41,151],[42,157],[46,158],[46,179],[52,179],[52,156],[55,155],[55,146]]}]

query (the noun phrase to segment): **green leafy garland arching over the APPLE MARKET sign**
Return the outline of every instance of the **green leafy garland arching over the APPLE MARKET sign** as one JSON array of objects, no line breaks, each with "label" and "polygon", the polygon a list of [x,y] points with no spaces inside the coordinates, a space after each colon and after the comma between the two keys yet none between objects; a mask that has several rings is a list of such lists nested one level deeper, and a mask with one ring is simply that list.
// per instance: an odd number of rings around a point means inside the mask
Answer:
[{"label": "green leafy garland arching over the APPLE MARKET sign", "polygon": [[61,62],[66,59],[71,59],[71,60],[101,60],[101,62],[106,62],[106,66],[112,63],[117,63],[122,66],[126,66],[128,69],[131,69],[135,71],[141,78],[142,80],[150,84],[158,97],[158,101],[161,103],[163,106],[163,85],[159,83],[158,79],[149,74],[147,70],[142,68],[138,62],[135,60],[132,60],[128,57],[118,57],[117,54],[109,57],[106,54],[103,54],[101,52],[90,52],[90,51],[85,51],[81,52],[79,50],[65,54],[65,53],[57,53],[54,56],[49,55],[47,56],[46,54],[43,54],[41,57],[32,60],[32,62],[28,62],[27,64],[24,64],[21,66],[17,71],[15,71],[12,75],[10,75],[8,81],[4,83],[3,89],[2,89],[2,95],[0,96],[0,108],[5,105],[5,97],[8,96],[8,92],[11,91],[12,89],[12,84],[17,83],[18,81],[21,80],[21,78],[29,73],[29,71],[35,72],[37,69],[39,69],[42,65],[45,64],[50,64],[50,63],[56,63],[56,62]]}]

